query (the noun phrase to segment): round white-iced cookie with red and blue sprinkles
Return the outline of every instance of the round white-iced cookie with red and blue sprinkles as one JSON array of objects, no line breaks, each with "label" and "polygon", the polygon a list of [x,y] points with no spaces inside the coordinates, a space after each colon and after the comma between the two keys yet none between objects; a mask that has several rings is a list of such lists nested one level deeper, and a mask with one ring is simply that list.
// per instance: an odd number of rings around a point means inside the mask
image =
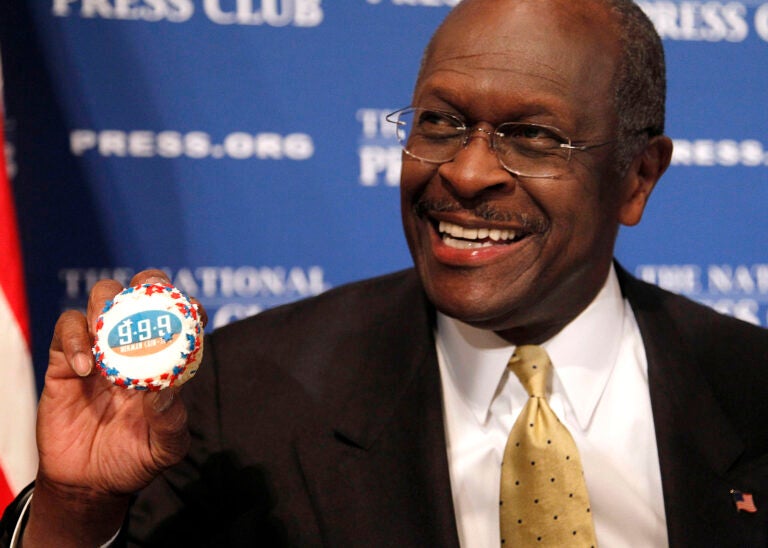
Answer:
[{"label": "round white-iced cookie with red and blue sprinkles", "polygon": [[197,306],[170,285],[129,287],[99,316],[93,355],[101,374],[118,386],[179,386],[197,373],[203,358]]}]

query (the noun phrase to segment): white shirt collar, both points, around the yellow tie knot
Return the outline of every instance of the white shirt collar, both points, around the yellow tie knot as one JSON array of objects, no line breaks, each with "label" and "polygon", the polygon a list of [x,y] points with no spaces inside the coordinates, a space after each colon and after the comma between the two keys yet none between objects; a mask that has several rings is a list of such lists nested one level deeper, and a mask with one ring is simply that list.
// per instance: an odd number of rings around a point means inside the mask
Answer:
[{"label": "white shirt collar, both points, around the yellow tie knot", "polygon": [[[582,429],[589,426],[621,344],[624,300],[613,267],[592,303],[557,335],[544,342],[554,366],[553,385]],[[460,397],[484,423],[514,345],[493,331],[478,329],[438,312],[437,346]]]}]

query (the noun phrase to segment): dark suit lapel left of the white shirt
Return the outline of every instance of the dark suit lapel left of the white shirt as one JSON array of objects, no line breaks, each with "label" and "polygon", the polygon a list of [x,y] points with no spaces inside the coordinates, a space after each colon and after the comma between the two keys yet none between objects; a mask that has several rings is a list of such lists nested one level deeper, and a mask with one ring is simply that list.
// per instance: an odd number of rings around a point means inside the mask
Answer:
[{"label": "dark suit lapel left of the white shirt", "polygon": [[297,436],[299,461],[324,544],[457,546],[432,309],[415,283],[392,298],[342,342],[366,360],[334,368],[345,403]]}]

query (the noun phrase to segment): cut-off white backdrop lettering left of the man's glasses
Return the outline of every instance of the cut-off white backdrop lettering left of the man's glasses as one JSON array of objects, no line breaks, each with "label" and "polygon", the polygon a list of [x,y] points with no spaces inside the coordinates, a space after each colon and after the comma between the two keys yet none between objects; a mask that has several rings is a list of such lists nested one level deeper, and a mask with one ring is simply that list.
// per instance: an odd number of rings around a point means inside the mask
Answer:
[{"label": "cut-off white backdrop lettering left of the man's glasses", "polygon": [[397,142],[396,126],[387,122],[387,114],[395,109],[361,108],[357,154],[360,158],[362,186],[398,186],[402,148]]}]

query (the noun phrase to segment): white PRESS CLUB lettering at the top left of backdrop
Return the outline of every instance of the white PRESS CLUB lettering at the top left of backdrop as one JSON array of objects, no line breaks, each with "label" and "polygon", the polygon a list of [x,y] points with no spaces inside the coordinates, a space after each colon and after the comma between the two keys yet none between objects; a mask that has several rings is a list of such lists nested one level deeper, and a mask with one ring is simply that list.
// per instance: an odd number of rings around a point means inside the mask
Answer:
[{"label": "white PRESS CLUB lettering at the top left of backdrop", "polygon": [[202,13],[217,25],[316,27],[322,0],[52,0],[56,17],[170,21],[183,23]]}]

